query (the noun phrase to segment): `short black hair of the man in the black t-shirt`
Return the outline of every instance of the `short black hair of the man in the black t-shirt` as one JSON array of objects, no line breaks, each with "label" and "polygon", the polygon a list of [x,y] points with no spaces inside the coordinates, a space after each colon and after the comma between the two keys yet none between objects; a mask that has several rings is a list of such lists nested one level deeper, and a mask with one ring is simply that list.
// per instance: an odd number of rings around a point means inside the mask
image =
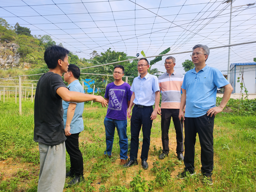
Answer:
[{"label": "short black hair of the man in the black t-shirt", "polygon": [[54,45],[45,50],[44,61],[49,69],[54,69],[58,64],[58,60],[60,59],[63,61],[67,54],[69,54],[69,50]]}]

